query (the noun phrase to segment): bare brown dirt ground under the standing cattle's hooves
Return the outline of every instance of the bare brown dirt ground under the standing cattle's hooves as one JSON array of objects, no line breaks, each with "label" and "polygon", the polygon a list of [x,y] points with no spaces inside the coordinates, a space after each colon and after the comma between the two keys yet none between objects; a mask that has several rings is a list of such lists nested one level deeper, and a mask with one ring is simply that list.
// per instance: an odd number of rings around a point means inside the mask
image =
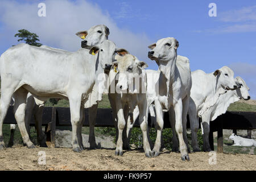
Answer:
[{"label": "bare brown dirt ground under the standing cattle's hooves", "polygon": [[[46,164],[38,164],[39,151],[46,154]],[[156,158],[146,158],[142,150],[125,151],[115,156],[114,150],[85,149],[77,154],[71,148],[33,148],[15,146],[0,151],[0,170],[256,170],[256,155],[216,154],[217,164],[209,164],[209,152],[180,154],[163,151]]]}]

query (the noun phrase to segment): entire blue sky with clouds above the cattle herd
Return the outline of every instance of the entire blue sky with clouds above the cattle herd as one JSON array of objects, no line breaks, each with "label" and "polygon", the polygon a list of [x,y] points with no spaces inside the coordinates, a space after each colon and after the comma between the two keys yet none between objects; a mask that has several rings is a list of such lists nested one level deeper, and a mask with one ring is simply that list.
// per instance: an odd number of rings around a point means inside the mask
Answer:
[{"label": "entire blue sky with clouds above the cattle herd", "polygon": [[[39,2],[46,3],[46,18],[37,16]],[[212,2],[217,17],[208,15]],[[147,46],[171,36],[192,71],[209,73],[228,65],[256,99],[256,1],[52,0],[1,1],[0,6],[0,53],[17,43],[13,36],[21,28],[38,34],[43,44],[75,51],[80,46],[77,31],[106,24],[109,39],[147,61],[150,69],[157,65],[147,58]]]}]

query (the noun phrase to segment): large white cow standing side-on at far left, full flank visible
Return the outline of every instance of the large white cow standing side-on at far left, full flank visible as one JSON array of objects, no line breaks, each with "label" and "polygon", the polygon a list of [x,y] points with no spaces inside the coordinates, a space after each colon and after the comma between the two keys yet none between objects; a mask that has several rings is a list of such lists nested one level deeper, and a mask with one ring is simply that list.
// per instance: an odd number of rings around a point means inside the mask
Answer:
[{"label": "large white cow standing side-on at far left, full flank visible", "polygon": [[7,49],[0,57],[0,148],[5,148],[2,124],[12,96],[15,98],[15,119],[23,142],[28,148],[35,147],[24,123],[26,98],[30,92],[41,101],[48,98],[69,100],[73,151],[83,150],[81,126],[84,103],[94,83],[100,84],[97,76],[111,67],[115,52],[118,52],[116,46],[109,40],[90,50],[82,48],[76,52],[57,52],[28,44]]}]

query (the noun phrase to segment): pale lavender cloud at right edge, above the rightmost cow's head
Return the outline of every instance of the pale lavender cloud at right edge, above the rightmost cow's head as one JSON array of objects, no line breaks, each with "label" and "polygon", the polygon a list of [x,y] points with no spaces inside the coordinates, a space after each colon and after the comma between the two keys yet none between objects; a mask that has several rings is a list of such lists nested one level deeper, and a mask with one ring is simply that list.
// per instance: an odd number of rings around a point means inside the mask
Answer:
[{"label": "pale lavender cloud at right edge, above the rightmost cow's head", "polygon": [[256,99],[256,64],[233,63],[229,67],[234,71],[235,76],[241,76],[246,85],[250,88],[251,98]]}]

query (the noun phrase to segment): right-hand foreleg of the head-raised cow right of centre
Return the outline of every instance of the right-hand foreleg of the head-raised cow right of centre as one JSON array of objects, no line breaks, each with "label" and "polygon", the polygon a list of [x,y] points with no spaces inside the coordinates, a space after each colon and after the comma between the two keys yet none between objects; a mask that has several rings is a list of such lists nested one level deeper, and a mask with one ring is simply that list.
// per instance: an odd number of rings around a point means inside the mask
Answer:
[{"label": "right-hand foreleg of the head-raised cow right of centre", "polygon": [[181,99],[179,99],[174,104],[174,111],[175,111],[175,129],[179,138],[181,159],[189,160],[187,146],[183,139],[183,126],[182,126],[183,106],[182,106]]}]

